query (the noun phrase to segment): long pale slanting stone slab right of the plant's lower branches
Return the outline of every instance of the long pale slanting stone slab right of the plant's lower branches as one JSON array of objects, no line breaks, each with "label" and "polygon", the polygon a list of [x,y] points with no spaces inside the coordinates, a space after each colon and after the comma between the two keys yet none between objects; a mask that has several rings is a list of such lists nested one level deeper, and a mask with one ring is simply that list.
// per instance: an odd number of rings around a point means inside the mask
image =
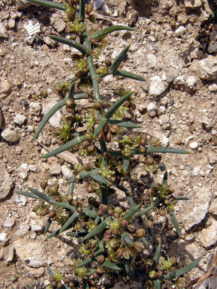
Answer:
[{"label": "long pale slanting stone slab right of the plant's lower branches", "polygon": [[196,206],[192,200],[186,201],[186,206],[189,213],[186,214],[184,210],[183,214],[180,213],[178,215],[178,223],[182,221],[185,230],[189,230],[192,226],[200,223],[205,218],[209,208],[209,203],[211,201],[211,196],[212,193],[210,189],[202,186],[196,193],[194,193],[194,199],[197,200]]}]

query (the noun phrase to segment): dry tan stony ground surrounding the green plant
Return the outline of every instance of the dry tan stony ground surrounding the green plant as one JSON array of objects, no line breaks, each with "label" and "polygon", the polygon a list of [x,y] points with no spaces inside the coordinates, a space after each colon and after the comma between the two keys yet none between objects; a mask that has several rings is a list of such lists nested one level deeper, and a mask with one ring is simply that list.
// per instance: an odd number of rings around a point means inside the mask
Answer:
[{"label": "dry tan stony ground surrounding the green plant", "polygon": [[[100,25],[105,28],[130,24],[136,31],[114,32],[108,36],[108,45],[99,62],[103,63],[106,57],[113,61],[119,51],[130,44],[123,69],[141,75],[147,82],[121,78],[116,81],[107,76],[100,82],[102,96],[115,100],[116,88],[135,90],[134,121],[142,125],[141,131],[159,137],[164,146],[191,152],[188,155],[164,154],[155,174],[144,171],[140,157],[134,159],[125,185],[133,192],[135,202],[140,201],[144,188],[162,181],[166,168],[175,192],[183,192],[190,198],[179,201],[176,206],[180,239],[168,217],[149,215],[155,224],[154,242],[144,254],[151,257],[161,241],[163,256],[176,253],[183,265],[203,256],[190,272],[195,278],[211,267],[217,238],[216,2],[105,2],[107,6],[104,3],[95,13],[99,17],[114,16],[114,19],[98,18],[95,29],[100,29]],[[65,183],[71,176],[67,166],[78,155],[39,158],[47,152],[46,147],[53,149],[56,145],[52,130],[59,126],[60,113],[45,126],[38,137],[39,143],[32,142],[31,134],[58,101],[52,85],[74,76],[70,54],[75,50],[47,38],[50,34],[67,35],[62,12],[22,0],[0,0],[0,10],[0,288],[11,288],[12,284],[14,287],[31,284],[39,277],[47,280],[46,264],[52,270],[60,268],[67,273],[66,265],[71,258],[79,257],[77,241],[65,234],[45,240],[46,217],[38,217],[31,211],[37,202],[30,198],[19,199],[14,193],[27,191],[27,187],[39,189],[46,177],[48,184],[60,184],[60,192],[67,190]],[[41,44],[38,36],[29,36],[24,29],[31,19],[40,24],[41,32],[37,35],[43,38]],[[45,89],[48,95],[44,99],[41,90]],[[87,106],[85,101],[81,102]],[[65,113],[64,109],[60,111]],[[137,184],[132,182],[135,173]],[[80,200],[86,201],[89,197],[84,185],[77,186],[75,192]],[[128,205],[123,192],[116,191],[112,198],[113,204],[121,198],[121,205]],[[50,232],[57,228],[52,224]],[[19,278],[12,283],[9,276],[14,273]],[[209,288],[216,289],[215,277],[196,287],[205,289],[208,284]],[[138,288],[139,283],[135,280],[130,286],[124,286],[118,282],[115,286]]]}]

